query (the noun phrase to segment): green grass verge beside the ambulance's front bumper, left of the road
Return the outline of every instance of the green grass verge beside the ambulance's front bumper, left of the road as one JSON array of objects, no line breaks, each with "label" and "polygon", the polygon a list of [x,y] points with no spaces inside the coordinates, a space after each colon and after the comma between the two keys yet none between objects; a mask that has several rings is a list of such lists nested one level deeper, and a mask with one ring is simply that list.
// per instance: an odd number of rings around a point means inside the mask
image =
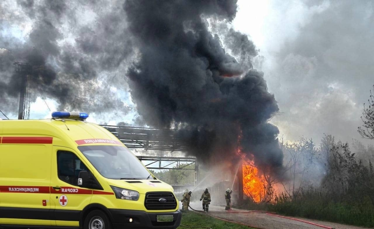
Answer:
[{"label": "green grass verge beside the ambulance's front bumper, left of the road", "polygon": [[[183,212],[182,225],[194,227],[209,227],[212,229],[248,229],[249,227],[242,226],[236,223],[229,223],[223,220],[218,220],[207,216],[205,213],[197,213],[194,211]],[[178,229],[187,229],[189,227],[179,226]],[[249,228],[254,229],[254,228]]]}]

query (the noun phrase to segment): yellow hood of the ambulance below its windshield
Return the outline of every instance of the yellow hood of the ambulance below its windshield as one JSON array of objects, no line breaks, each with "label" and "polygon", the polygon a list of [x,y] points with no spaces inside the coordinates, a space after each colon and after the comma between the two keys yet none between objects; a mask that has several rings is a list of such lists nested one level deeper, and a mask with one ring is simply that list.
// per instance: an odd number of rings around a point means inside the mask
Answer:
[{"label": "yellow hood of the ambulance below its windshield", "polygon": [[160,180],[113,180],[108,184],[118,188],[125,188],[145,194],[146,192],[174,192],[173,187]]}]

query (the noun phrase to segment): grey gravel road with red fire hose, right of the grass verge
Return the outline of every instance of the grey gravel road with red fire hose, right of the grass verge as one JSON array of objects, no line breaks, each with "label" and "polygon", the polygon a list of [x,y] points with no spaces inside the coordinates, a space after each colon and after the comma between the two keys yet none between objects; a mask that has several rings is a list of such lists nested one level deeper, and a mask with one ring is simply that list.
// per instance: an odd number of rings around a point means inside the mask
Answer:
[{"label": "grey gravel road with red fire hose, right of the grass verge", "polygon": [[[190,206],[195,210],[202,210],[201,202],[191,202]],[[291,219],[284,219],[281,217],[269,216],[265,213],[228,213],[222,206],[209,205],[209,215],[219,217],[222,219],[239,222],[261,229],[321,229],[322,227],[310,225],[308,223],[299,222]],[[242,209],[234,209],[233,211],[245,211]],[[364,229],[362,227],[344,225],[339,223],[324,222],[320,220],[304,219],[300,217],[292,217],[295,219],[306,220],[308,222],[316,223],[323,226],[332,227],[335,229]]]}]

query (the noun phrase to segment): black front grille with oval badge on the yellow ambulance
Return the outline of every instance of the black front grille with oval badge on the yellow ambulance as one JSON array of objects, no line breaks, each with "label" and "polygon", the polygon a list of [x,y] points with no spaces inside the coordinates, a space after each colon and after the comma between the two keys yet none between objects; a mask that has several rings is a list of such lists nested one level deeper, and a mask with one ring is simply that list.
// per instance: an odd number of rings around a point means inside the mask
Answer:
[{"label": "black front grille with oval badge on the yellow ambulance", "polygon": [[[165,198],[166,202],[160,203],[160,198]],[[177,207],[177,200],[172,192],[147,192],[144,206],[147,210],[172,210]]]}]

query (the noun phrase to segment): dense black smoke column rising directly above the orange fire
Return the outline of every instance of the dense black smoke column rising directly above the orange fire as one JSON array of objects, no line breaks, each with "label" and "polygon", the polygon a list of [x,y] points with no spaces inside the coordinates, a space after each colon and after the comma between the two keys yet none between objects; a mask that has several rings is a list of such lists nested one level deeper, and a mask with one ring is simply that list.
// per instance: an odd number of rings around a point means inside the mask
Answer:
[{"label": "dense black smoke column rising directly above the orange fire", "polygon": [[129,85],[145,121],[182,129],[203,161],[237,158],[240,148],[257,165],[281,167],[279,131],[267,123],[279,109],[263,73],[245,58],[257,54],[254,44],[227,31],[229,46],[241,47],[240,64],[208,30],[206,18],[233,20],[236,1],[136,0],[124,9],[141,53],[128,69]]}]

